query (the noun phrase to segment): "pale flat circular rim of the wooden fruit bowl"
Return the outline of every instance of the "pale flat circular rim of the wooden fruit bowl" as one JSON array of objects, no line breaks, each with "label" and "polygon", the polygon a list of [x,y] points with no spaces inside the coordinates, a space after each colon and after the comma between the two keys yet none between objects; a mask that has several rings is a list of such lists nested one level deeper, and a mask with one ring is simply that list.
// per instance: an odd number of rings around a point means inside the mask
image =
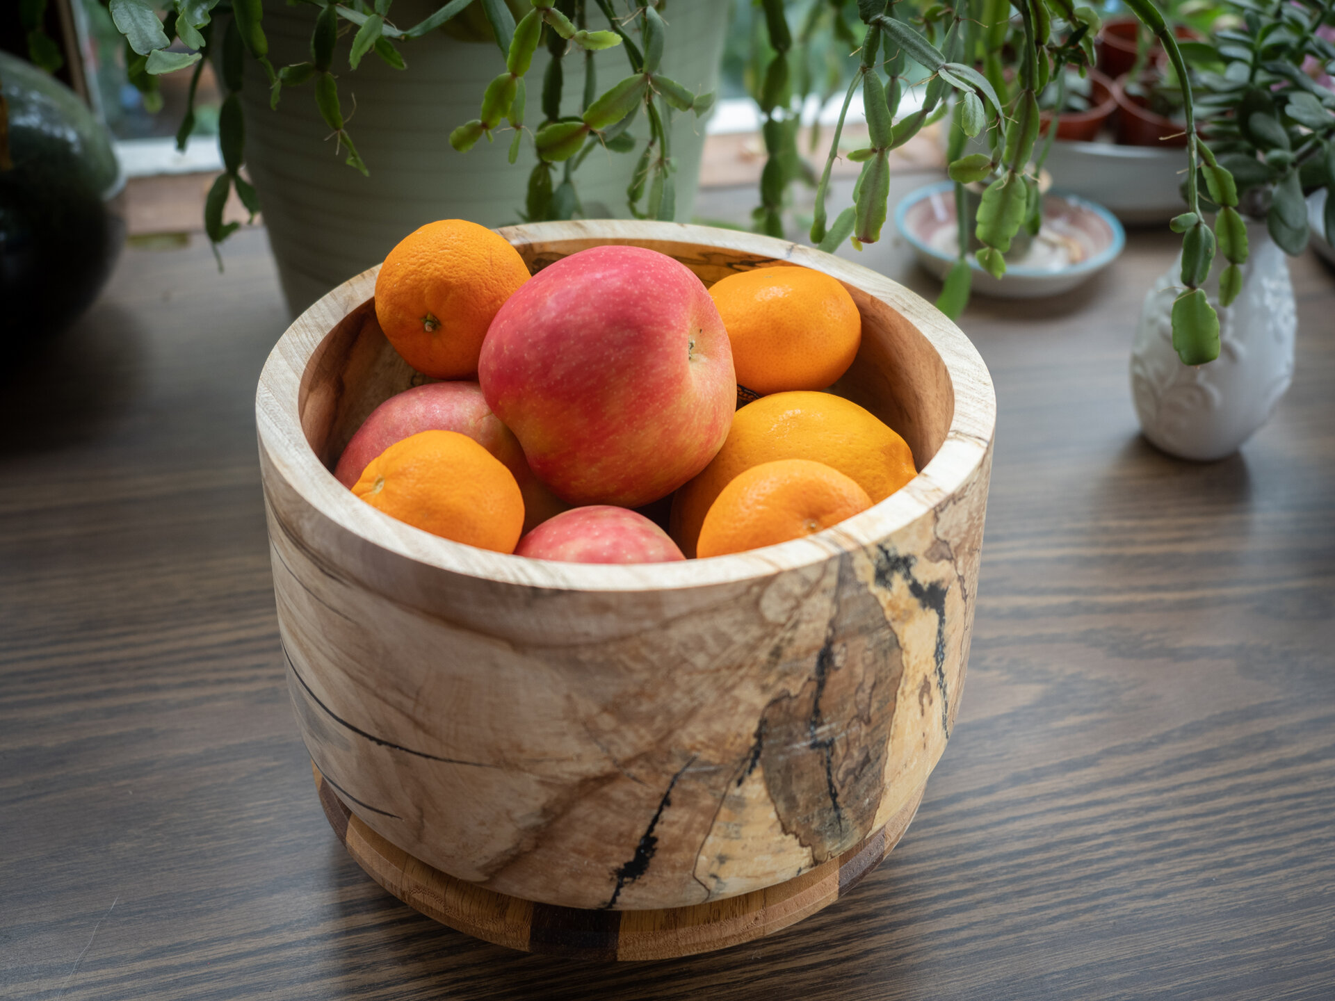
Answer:
[{"label": "pale flat circular rim of the wooden fruit bowl", "polygon": [[708,246],[832,275],[900,312],[936,350],[955,394],[945,440],[912,480],[866,511],[805,539],[726,557],[672,563],[562,563],[443,539],[362,503],[334,479],[302,430],[298,399],[310,358],[343,318],[372,298],[376,264],[307,308],[270,352],[255,395],[259,444],[270,460],[266,480],[282,476],[304,503],[363,543],[450,574],[559,591],[663,591],[760,581],[874,546],[947,500],[991,454],[996,394],[977,348],[934,306],[870,268],[798,243],[685,223],[599,219],[533,223],[497,232],[521,250],[559,242],[651,243],[657,250],[681,244],[696,252]]}]

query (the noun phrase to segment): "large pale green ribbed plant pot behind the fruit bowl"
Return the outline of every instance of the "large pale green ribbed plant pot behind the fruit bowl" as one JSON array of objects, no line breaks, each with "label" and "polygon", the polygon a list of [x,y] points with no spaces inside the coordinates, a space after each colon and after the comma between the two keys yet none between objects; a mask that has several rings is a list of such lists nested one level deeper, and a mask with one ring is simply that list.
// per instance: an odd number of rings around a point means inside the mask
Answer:
[{"label": "large pale green ribbed plant pot behind the fruit bowl", "polygon": [[[414,24],[438,5],[398,0],[395,21]],[[672,3],[670,13],[665,13],[662,72],[697,93],[714,89],[728,9],[726,3],[714,0]],[[275,65],[311,57],[314,23],[310,7],[264,1],[264,31]],[[494,143],[481,140],[466,153],[450,147],[450,131],[478,116],[482,92],[505,69],[505,59],[493,43],[463,43],[437,31],[399,45],[407,69],[391,69],[368,53],[352,71],[347,64],[351,40],[352,32],[339,39],[334,72],[347,129],[370,170],[368,178],[335,155],[311,84],[284,89],[278,109],[271,111],[264,73],[255,60],[246,60],[246,165],[259,191],[270,246],[294,314],[383,260],[400,239],[435,219],[470,219],[483,226],[521,222],[529,174],[537,163],[527,137],[518,163],[507,161],[509,131]],[[542,79],[549,61],[546,45],[541,45],[526,77],[525,123],[530,129],[542,120]],[[565,59],[565,113],[575,111],[583,92],[583,64],[581,52]],[[621,47],[598,52],[594,65],[599,92],[630,72]],[[595,149],[575,174],[577,191],[590,216],[630,215],[626,186],[643,148],[642,113],[631,132],[641,136],[634,152]],[[704,143],[704,120],[677,113],[672,152],[681,220],[690,219]],[[559,182],[558,164],[554,183]]]}]

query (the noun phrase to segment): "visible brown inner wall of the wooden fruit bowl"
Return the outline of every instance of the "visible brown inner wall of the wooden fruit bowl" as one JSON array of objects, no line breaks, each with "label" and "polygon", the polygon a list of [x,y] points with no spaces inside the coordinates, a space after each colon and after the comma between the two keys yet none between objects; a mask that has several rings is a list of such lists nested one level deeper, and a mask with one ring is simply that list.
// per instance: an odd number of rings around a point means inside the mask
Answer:
[{"label": "visible brown inner wall of the wooden fruit bowl", "polygon": [[[563,256],[605,243],[647,246],[689,267],[705,286],[737,271],[785,264],[774,258],[682,240],[561,239],[535,243],[502,230],[529,264],[541,271]],[[531,232],[531,230],[530,230]],[[832,259],[833,260],[833,259]],[[838,275],[836,275],[838,278]],[[941,355],[897,310],[844,282],[862,315],[862,343],[849,371],[830,391],[866,407],[913,450],[918,471],[945,442],[955,392]],[[351,310],[320,342],[302,375],[298,412],[315,455],[332,470],[343,447],[375,407],[427,382],[399,358],[368,299]]]}]

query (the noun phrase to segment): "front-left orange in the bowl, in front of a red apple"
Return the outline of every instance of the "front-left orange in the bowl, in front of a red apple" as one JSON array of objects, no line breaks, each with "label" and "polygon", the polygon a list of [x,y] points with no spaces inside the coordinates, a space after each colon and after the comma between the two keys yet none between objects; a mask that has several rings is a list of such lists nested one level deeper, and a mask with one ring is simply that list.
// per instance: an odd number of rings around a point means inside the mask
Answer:
[{"label": "front-left orange in the bowl, in front of a red apple", "polygon": [[391,518],[455,542],[514,553],[523,496],[514,474],[458,431],[419,431],[362,472],[352,492]]}]

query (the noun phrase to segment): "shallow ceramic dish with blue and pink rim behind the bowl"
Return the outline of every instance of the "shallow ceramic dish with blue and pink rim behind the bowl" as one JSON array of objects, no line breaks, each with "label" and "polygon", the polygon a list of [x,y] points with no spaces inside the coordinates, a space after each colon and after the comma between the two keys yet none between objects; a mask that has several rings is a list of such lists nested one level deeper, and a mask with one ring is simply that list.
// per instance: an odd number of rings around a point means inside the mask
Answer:
[{"label": "shallow ceramic dish with blue and pink rim behind the bowl", "polygon": [[[929,184],[904,196],[894,226],[924,268],[945,279],[956,262],[955,186]],[[1125,244],[1125,232],[1101,206],[1052,191],[1043,202],[1043,228],[1024,256],[1007,259],[1007,272],[992,278],[971,255],[973,291],[1000,299],[1060,295],[1108,267]]]}]

